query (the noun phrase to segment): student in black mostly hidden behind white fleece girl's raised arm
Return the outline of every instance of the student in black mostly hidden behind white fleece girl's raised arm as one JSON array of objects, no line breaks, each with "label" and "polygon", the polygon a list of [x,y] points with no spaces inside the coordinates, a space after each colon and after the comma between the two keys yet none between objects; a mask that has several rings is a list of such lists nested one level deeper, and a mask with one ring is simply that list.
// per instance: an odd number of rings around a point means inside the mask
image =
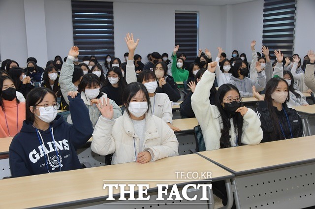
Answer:
[{"label": "student in black mostly hidden behind white fleece girl's raised arm", "polygon": [[[190,88],[190,92],[188,93],[186,99],[181,104],[181,116],[182,116],[182,118],[195,118],[195,114],[194,114],[192,107],[191,107],[191,96],[192,96],[194,90],[196,89],[196,85],[201,80],[201,77],[204,74],[204,72],[206,72],[206,70],[207,69],[204,69],[204,68],[201,68],[200,70],[198,70],[194,81],[189,82],[188,87]],[[216,100],[216,95],[217,95],[217,89],[213,85],[210,91],[211,91],[210,97],[209,97],[210,104],[214,105],[215,100]]]}]

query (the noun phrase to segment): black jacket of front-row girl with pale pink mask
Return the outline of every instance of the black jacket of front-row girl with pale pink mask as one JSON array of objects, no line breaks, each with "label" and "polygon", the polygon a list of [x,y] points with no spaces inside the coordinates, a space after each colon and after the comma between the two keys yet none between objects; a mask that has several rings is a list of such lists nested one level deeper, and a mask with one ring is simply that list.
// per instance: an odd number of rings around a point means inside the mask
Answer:
[{"label": "black jacket of front-row girl with pale pink mask", "polygon": [[[271,141],[277,141],[277,140],[283,140],[283,139],[291,139],[291,132],[293,135],[293,138],[302,137],[303,136],[303,125],[302,125],[302,119],[297,114],[297,112],[287,107],[286,105],[283,106],[283,109],[281,111],[278,111],[275,107],[279,122],[281,124],[281,127],[283,129],[280,129],[280,133],[276,133],[276,137],[273,137],[273,132],[275,131],[275,128],[273,127],[271,117],[269,110],[267,108],[267,103],[265,101],[259,101],[258,107],[256,109],[257,116],[259,117],[261,121],[261,129],[263,132],[263,138],[261,142],[271,142]],[[284,110],[286,112],[287,118],[285,116]],[[290,124],[288,124],[288,121]],[[291,132],[290,132],[291,128]],[[285,136],[285,138],[284,138]]]}]

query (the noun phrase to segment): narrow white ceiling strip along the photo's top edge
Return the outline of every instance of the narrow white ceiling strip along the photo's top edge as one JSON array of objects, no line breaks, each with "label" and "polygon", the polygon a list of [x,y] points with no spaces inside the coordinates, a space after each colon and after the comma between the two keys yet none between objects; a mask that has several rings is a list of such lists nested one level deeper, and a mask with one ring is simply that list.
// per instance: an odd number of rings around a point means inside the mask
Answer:
[{"label": "narrow white ceiling strip along the photo's top edge", "polygon": [[244,3],[253,0],[112,0],[116,2],[135,3],[163,3],[163,4],[187,4],[187,5],[213,5],[222,6],[226,4]]}]

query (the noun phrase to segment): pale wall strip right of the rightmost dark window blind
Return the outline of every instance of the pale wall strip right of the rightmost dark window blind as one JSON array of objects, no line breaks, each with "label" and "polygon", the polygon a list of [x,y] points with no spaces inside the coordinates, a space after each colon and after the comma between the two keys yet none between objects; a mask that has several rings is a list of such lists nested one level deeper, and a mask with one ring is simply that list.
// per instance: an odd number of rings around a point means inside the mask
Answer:
[{"label": "pale wall strip right of the rightmost dark window blind", "polygon": [[294,53],[303,57],[308,50],[315,50],[315,1],[297,0]]}]

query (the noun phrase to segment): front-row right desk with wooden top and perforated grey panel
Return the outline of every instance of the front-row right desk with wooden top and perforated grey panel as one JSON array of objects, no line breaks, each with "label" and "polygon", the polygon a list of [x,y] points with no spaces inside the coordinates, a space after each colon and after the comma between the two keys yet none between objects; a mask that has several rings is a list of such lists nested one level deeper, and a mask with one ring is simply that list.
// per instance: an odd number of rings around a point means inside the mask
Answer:
[{"label": "front-row right desk with wooden top and perforated grey panel", "polygon": [[233,173],[240,208],[315,205],[315,136],[199,152]]}]

